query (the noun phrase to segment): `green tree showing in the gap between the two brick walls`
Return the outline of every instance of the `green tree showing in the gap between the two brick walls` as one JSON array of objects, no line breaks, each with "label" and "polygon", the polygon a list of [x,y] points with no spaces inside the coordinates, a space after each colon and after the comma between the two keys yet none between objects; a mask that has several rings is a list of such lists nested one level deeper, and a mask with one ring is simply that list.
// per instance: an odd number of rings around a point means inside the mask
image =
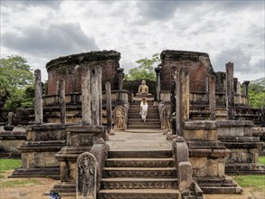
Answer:
[{"label": "green tree showing in the gap between the two brick walls", "polygon": [[151,59],[141,59],[136,63],[138,66],[128,71],[125,75],[126,81],[149,80],[156,81],[154,66],[160,61],[159,54],[153,54]]}]

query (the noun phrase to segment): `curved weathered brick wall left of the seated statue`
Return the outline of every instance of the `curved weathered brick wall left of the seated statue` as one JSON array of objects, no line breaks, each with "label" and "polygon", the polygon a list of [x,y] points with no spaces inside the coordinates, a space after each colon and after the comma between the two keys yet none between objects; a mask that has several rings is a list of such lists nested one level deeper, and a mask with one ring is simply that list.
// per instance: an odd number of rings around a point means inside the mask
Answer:
[{"label": "curved weathered brick wall left of the seated statue", "polygon": [[118,90],[120,53],[115,51],[84,52],[54,59],[46,64],[48,71],[47,94],[57,94],[57,82],[65,80],[65,94],[81,91],[81,73],[91,66],[102,68],[102,83],[110,81],[112,90]]}]

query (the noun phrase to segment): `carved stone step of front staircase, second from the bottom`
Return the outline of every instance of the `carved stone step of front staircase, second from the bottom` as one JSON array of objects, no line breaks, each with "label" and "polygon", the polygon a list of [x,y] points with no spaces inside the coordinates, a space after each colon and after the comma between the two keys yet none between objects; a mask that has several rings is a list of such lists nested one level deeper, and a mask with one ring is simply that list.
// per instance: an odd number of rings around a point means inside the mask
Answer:
[{"label": "carved stone step of front staircase, second from the bottom", "polygon": [[177,178],[103,178],[101,189],[173,189]]}]

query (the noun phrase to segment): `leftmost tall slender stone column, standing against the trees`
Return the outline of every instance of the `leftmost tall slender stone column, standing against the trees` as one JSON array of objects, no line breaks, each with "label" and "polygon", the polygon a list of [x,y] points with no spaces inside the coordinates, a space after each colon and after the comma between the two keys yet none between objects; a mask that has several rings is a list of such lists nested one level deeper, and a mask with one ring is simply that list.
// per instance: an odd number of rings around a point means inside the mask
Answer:
[{"label": "leftmost tall slender stone column, standing against the trees", "polygon": [[35,124],[43,124],[43,87],[41,70],[34,71],[35,76]]}]

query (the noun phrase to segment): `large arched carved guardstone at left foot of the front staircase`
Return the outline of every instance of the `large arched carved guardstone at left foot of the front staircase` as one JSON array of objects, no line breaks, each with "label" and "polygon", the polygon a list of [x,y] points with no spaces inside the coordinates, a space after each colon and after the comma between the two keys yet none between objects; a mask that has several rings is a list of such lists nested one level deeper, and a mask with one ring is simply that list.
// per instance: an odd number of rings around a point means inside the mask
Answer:
[{"label": "large arched carved guardstone at left foot of the front staircase", "polygon": [[89,152],[77,158],[76,198],[96,199],[97,159]]}]

